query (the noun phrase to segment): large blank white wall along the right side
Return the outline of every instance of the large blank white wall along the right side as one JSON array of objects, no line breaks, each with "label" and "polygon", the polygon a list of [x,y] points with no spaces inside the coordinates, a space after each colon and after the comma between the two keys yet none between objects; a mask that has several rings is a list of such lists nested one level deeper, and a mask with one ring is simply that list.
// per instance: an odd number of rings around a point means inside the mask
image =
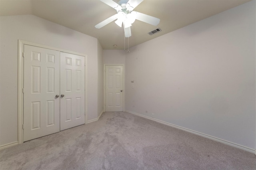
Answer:
[{"label": "large blank white wall along the right side", "polygon": [[255,3],[130,48],[126,110],[255,148]]}]

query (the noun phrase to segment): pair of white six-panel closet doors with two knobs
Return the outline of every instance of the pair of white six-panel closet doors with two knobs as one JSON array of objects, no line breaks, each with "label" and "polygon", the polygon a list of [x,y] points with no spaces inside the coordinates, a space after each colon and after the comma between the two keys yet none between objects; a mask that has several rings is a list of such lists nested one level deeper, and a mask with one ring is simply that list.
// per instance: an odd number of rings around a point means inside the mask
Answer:
[{"label": "pair of white six-panel closet doors with two knobs", "polygon": [[24,45],[24,141],[85,123],[84,57]]}]

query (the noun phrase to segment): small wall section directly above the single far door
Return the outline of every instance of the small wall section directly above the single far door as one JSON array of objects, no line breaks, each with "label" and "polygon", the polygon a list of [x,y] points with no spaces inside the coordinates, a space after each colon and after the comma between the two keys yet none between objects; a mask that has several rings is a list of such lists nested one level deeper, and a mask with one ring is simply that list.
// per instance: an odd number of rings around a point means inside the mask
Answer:
[{"label": "small wall section directly above the single far door", "polygon": [[103,62],[104,64],[125,64],[126,52],[122,49],[104,49]]}]

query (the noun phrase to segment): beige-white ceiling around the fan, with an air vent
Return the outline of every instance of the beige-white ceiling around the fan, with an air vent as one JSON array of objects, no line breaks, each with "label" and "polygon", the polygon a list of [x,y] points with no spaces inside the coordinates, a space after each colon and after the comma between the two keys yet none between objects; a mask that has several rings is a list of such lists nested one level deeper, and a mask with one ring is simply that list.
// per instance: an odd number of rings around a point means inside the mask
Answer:
[{"label": "beige-white ceiling around the fan, with an air vent", "polygon": [[[114,0],[118,3],[119,0]],[[134,11],[160,18],[158,26],[136,20],[129,47],[162,36],[250,0],[144,0]],[[0,16],[32,14],[98,38],[103,49],[124,49],[124,29],[114,22],[94,26],[116,14],[100,0],[0,0]],[[162,32],[148,35],[156,28]],[[126,38],[126,48],[128,39]],[[113,47],[113,45],[118,47]]]}]

